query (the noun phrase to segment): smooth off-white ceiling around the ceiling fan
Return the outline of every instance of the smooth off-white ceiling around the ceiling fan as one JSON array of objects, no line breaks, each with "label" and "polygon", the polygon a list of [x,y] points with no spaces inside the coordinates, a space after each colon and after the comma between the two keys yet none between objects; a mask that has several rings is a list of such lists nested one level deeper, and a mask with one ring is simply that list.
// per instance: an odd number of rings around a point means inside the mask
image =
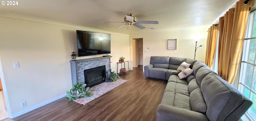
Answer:
[{"label": "smooth off-white ceiling around the ceiling fan", "polygon": [[[237,0],[17,0],[17,6],[0,6],[0,16],[29,20],[37,18],[88,26],[104,31],[131,34],[137,31],[169,30],[209,26]],[[157,20],[159,24],[141,24],[146,29],[124,26],[128,14],[137,20]],[[127,29],[127,27],[129,29]]]}]

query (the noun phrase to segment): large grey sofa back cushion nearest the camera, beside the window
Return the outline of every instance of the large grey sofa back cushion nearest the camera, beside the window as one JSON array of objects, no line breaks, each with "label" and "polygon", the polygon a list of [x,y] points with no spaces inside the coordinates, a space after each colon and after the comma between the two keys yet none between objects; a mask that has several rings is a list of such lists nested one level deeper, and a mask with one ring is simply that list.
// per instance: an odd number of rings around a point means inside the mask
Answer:
[{"label": "large grey sofa back cushion nearest the camera, beside the window", "polygon": [[202,80],[201,91],[206,102],[206,115],[210,121],[224,121],[244,101],[243,95],[216,73]]}]

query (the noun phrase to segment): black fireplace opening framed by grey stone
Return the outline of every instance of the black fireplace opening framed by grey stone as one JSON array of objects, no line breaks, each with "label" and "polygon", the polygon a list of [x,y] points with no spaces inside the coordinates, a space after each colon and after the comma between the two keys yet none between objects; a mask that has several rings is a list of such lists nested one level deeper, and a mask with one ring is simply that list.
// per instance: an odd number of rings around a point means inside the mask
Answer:
[{"label": "black fireplace opening framed by grey stone", "polygon": [[84,83],[86,84],[86,87],[93,87],[105,81],[105,65],[84,70]]}]

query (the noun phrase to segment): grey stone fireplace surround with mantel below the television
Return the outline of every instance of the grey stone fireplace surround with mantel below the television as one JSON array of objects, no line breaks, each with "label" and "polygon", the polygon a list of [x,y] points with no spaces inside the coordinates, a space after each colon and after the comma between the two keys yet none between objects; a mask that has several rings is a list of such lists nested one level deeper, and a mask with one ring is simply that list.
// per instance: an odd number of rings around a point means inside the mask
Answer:
[{"label": "grey stone fireplace surround with mantel below the television", "polygon": [[72,85],[76,84],[77,82],[84,83],[85,69],[90,69],[90,68],[105,65],[106,72],[108,72],[108,75],[109,75],[111,57],[112,56],[96,57],[96,58],[81,59],[76,61],[69,61],[70,67],[71,67]]}]

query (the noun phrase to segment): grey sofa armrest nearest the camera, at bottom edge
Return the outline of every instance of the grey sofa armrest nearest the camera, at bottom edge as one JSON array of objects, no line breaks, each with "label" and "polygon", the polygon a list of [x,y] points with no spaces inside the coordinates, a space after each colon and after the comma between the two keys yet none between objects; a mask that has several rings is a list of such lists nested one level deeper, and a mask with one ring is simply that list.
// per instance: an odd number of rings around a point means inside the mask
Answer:
[{"label": "grey sofa armrest nearest the camera, at bottom edge", "polygon": [[156,121],[209,121],[206,115],[179,107],[159,104]]}]

